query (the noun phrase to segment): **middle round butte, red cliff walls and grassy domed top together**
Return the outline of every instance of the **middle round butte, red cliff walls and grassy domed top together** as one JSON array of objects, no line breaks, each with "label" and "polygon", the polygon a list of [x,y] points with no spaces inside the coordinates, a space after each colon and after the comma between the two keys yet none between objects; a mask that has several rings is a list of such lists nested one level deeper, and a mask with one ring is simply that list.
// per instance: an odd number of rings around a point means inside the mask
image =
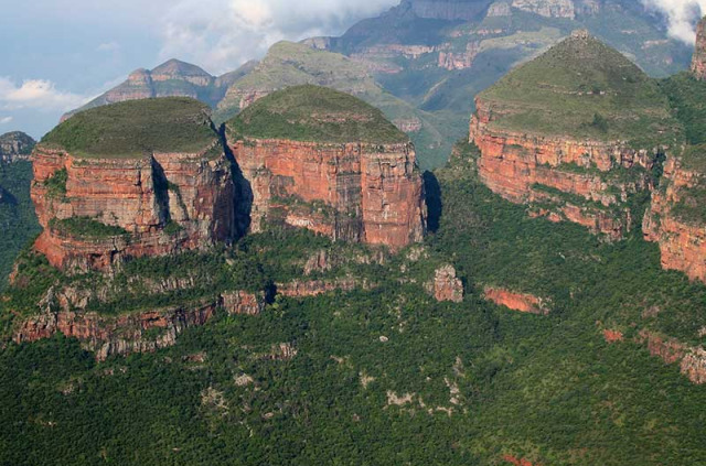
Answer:
[{"label": "middle round butte, red cliff walls and grassy domed top together", "polygon": [[[302,110],[306,116],[292,113]],[[295,124],[278,127],[277,118]],[[376,141],[364,127],[387,132]],[[228,122],[227,139],[252,192],[252,231],[281,221],[393,250],[421,239],[426,207],[414,147],[364,102],[332,89],[292,87]]]}]

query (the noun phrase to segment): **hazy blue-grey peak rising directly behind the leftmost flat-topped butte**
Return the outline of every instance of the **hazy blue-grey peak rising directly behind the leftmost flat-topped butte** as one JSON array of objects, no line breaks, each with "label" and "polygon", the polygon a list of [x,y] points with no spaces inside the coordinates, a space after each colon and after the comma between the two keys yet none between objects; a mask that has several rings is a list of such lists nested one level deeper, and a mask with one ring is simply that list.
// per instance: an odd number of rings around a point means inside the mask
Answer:
[{"label": "hazy blue-grey peak rising directly behind the leftmost flat-topped butte", "polygon": [[254,66],[255,62],[248,62],[235,72],[215,77],[195,65],[170,59],[152,71],[136,69],[126,82],[64,115],[62,121],[89,108],[152,97],[191,97],[215,107],[226,89]]}]

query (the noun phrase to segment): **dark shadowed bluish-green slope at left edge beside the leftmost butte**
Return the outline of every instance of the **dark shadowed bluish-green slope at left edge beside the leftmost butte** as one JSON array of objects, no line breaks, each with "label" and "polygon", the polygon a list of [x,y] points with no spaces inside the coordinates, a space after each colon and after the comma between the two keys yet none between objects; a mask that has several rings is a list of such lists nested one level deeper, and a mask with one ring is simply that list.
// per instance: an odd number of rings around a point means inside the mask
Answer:
[{"label": "dark shadowed bluish-green slope at left edge beside the leftmost butte", "polygon": [[0,291],[20,250],[40,232],[31,183],[31,162],[0,163]]}]

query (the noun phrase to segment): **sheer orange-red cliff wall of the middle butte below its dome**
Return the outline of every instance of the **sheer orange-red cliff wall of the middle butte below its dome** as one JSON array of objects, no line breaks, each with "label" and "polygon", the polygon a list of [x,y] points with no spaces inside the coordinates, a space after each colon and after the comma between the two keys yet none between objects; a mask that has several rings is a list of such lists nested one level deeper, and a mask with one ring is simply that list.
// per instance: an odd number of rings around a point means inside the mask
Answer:
[{"label": "sheer orange-red cliff wall of the middle butte below its dome", "polygon": [[426,207],[410,144],[228,141],[253,193],[250,229],[266,219],[335,240],[397,250],[424,235]]}]

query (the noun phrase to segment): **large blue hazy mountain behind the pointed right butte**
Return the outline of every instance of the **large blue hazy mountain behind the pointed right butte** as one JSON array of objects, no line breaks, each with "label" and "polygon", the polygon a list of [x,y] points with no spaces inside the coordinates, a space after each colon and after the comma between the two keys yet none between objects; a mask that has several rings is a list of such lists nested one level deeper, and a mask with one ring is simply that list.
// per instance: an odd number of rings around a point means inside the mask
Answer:
[{"label": "large blue hazy mountain behind the pointed right butte", "polygon": [[445,139],[457,140],[478,93],[579,29],[653,76],[684,69],[689,59],[662,18],[617,0],[405,0],[341,37],[306,43],[364,64],[386,90],[435,116]]}]

